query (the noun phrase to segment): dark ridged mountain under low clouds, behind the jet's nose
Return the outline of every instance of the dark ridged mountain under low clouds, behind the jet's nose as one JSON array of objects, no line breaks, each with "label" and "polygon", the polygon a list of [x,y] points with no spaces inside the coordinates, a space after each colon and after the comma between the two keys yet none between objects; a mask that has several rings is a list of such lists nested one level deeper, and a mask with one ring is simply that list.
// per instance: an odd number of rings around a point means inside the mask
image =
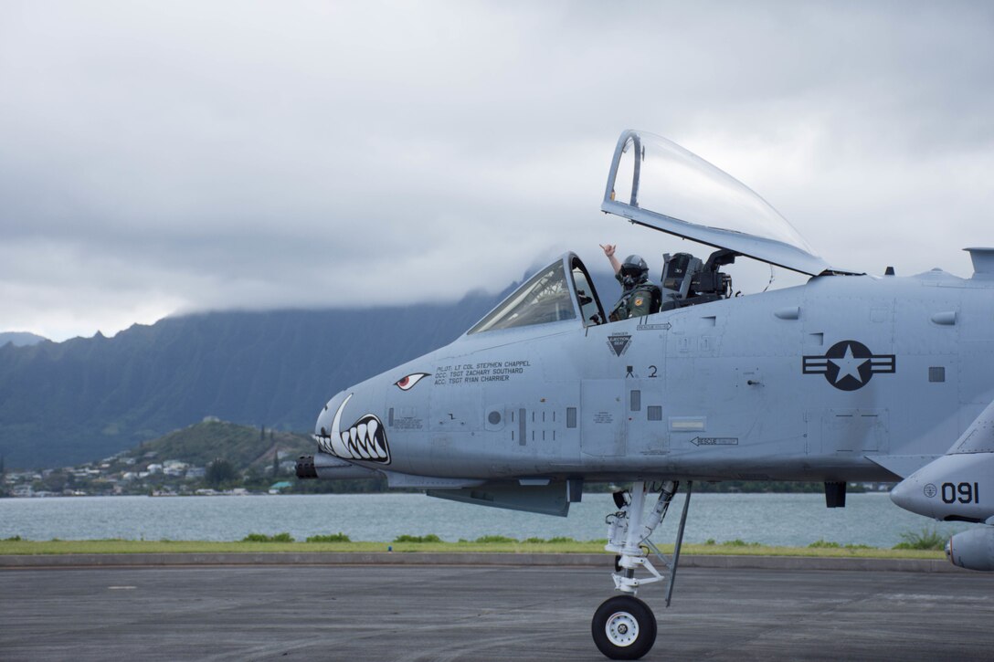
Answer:
[{"label": "dark ridged mountain under low clouds, behind the jet's nose", "polygon": [[100,459],[218,416],[309,430],[341,389],[448,344],[513,287],[455,303],[207,312],[0,347],[8,467]]}]

